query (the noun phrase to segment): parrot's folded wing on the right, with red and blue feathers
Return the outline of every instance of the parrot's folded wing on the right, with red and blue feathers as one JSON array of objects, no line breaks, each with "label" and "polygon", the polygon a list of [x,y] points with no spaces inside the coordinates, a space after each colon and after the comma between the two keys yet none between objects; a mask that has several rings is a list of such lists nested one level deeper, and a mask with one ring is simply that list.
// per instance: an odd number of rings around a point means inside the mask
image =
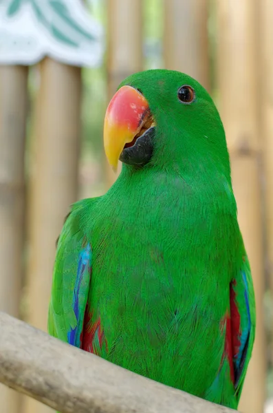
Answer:
[{"label": "parrot's folded wing on the right, with red and blue feathers", "polygon": [[227,339],[231,343],[230,361],[233,364],[234,388],[238,399],[252,353],[255,324],[254,288],[248,257],[244,255],[240,271],[230,284],[230,337],[228,337],[227,325]]}]

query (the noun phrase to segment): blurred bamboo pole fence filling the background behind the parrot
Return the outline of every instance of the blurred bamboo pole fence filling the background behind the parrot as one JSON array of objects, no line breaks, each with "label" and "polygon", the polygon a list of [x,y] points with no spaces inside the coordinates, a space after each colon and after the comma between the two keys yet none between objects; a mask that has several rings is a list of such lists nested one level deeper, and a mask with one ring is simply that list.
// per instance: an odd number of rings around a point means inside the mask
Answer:
[{"label": "blurred bamboo pole fence filling the background behind the parrot", "polygon": [[[186,72],[219,107],[256,290],[256,341],[239,410],[272,413],[272,0],[87,6],[107,33],[101,67],[50,58],[29,70],[0,66],[0,309],[46,330],[55,242],[69,204],[104,193],[116,179],[102,149],[107,102],[132,72]],[[3,388],[0,405],[3,413],[50,412]]]}]

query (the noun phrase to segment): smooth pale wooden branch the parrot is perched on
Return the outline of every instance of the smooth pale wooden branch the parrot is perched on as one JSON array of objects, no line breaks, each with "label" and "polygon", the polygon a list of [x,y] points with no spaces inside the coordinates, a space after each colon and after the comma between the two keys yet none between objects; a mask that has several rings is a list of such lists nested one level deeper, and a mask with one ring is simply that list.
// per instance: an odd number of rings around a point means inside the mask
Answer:
[{"label": "smooth pale wooden branch the parrot is perched on", "polygon": [[232,413],[0,313],[0,382],[62,413]]}]

